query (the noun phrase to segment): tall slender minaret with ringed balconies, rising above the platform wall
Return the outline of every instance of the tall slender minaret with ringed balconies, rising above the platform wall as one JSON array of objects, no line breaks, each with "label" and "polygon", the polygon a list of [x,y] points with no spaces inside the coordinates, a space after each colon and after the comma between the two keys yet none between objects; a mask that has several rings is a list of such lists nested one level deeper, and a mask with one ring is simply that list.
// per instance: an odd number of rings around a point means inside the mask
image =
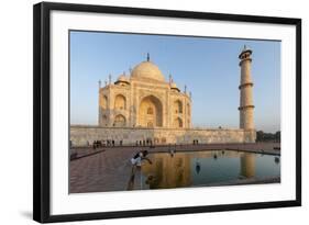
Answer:
[{"label": "tall slender minaret with ringed balconies, rising above the platform wall", "polygon": [[252,78],[251,78],[251,58],[252,50],[244,46],[239,58],[241,67],[241,85],[239,87],[241,91],[240,100],[240,128],[254,130],[254,105],[252,95]]}]

